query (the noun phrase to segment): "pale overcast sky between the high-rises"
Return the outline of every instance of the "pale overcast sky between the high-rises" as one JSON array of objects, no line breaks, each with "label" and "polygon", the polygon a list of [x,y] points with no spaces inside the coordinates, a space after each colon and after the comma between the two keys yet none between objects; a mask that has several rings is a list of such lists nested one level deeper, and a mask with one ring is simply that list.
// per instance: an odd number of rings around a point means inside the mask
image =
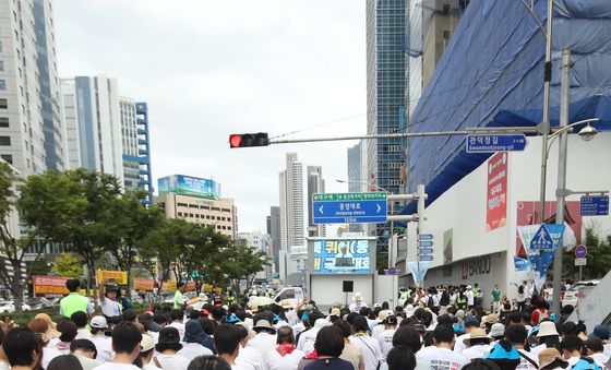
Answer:
[{"label": "pale overcast sky between the high-rises", "polygon": [[[284,154],[345,191],[354,142],[229,150],[228,134],[366,132],[364,1],[57,0],[62,77],[106,74],[148,103],[153,174],[214,177],[240,231],[265,230]],[[304,168],[306,170],[306,168]]]}]

